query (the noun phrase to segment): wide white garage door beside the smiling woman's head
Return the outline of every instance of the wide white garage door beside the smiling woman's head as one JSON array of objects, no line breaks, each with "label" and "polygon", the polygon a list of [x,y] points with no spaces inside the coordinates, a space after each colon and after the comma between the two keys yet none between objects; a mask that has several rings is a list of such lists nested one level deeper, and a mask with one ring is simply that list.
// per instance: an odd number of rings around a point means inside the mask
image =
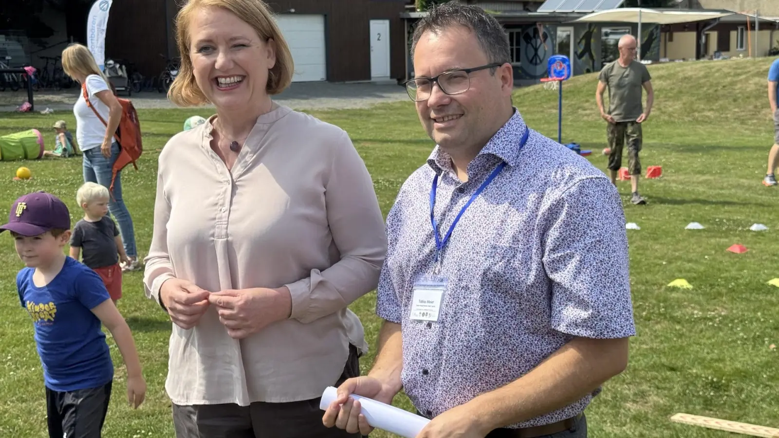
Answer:
[{"label": "wide white garage door beside the smiling woman's head", "polygon": [[276,21],[294,59],[292,82],[326,80],[325,16],[283,14]]}]

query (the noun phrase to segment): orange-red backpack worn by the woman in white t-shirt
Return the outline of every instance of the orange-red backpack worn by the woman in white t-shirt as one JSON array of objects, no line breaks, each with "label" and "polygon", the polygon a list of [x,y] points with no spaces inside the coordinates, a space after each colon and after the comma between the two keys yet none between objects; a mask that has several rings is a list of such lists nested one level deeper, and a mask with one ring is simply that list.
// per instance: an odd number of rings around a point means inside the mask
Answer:
[{"label": "orange-red backpack worn by the woman in white t-shirt", "polygon": [[[97,118],[100,118],[100,122],[103,122],[104,125],[108,126],[108,122],[106,122],[103,117],[100,116],[100,113],[97,112],[97,109],[92,106],[90,97],[86,93],[86,83],[81,86],[81,90],[84,94],[86,106],[92,108],[92,111],[97,115]],[[119,127],[114,133],[114,137],[119,143],[119,156],[116,158],[112,168],[111,186],[108,188],[110,191],[114,190],[116,174],[125,168],[127,164],[132,163],[132,167],[136,168],[136,171],[138,170],[136,160],[138,160],[143,153],[141,124],[138,120],[136,108],[132,106],[132,101],[129,101],[129,99],[122,99],[121,97],[117,97],[116,99],[119,101],[119,104],[122,105],[122,119],[119,121]]]}]

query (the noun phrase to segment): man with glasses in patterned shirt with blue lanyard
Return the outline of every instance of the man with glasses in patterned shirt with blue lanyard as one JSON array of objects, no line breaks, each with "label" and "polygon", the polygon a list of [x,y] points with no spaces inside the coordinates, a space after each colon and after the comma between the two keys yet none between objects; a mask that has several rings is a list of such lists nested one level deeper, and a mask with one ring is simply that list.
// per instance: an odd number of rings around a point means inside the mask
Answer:
[{"label": "man with glasses in patterned shirt with blue lanyard", "polygon": [[323,422],[366,435],[349,394],[403,389],[432,419],[419,438],[587,436],[583,411],[635,334],[619,194],[527,127],[508,37],[482,9],[435,7],[411,50],[408,94],[436,147],[387,217],[374,366]]}]

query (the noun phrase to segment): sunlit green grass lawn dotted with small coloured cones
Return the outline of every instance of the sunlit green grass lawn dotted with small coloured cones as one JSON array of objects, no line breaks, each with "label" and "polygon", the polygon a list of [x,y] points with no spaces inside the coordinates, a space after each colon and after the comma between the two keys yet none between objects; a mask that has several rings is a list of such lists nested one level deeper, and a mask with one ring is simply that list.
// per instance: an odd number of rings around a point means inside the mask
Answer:
[{"label": "sunlit green grass lawn dotted with small coloured cones", "polygon": [[[776,233],[779,189],[760,185],[772,122],[766,98],[768,59],[651,65],[654,111],[644,126],[641,161],[661,165],[663,178],[642,180],[647,206],[629,204],[629,182],[619,185],[627,220],[631,283],[638,335],[631,342],[629,369],[608,382],[587,410],[590,436],[717,437],[724,432],[671,423],[676,412],[775,426],[779,398],[779,277]],[[605,122],[594,104],[596,76],[577,76],[564,86],[563,142],[594,150],[590,161],[605,169]],[[516,90],[514,104],[530,127],[557,136],[557,95],[541,87]],[[189,115],[207,111],[140,111],[147,152],[138,172],[124,172],[124,198],[145,255],[152,232],[157,154]],[[411,101],[371,110],[312,111],[340,125],[371,171],[382,210],[390,209],[400,184],[424,163],[432,142],[421,129]],[[72,115],[0,117],[0,135],[37,128],[46,134],[58,118]],[[33,171],[13,182],[19,165]],[[47,190],[68,203],[78,218],[79,159],[0,162],[0,215],[5,221],[17,196]],[[691,221],[706,229],[686,231]],[[770,231],[753,232],[753,223]],[[593,224],[597,227],[597,224]],[[725,251],[741,243],[745,254]],[[16,271],[21,267],[12,239],[0,235],[0,436],[47,436],[41,364],[30,316],[19,307]],[[170,401],[164,392],[171,323],[143,295],[142,273],[125,276],[119,309],[138,344],[148,383],[146,403],[135,411],[125,401],[124,367],[112,341],[117,382],[104,427],[106,436],[173,436]],[[686,278],[692,290],[667,288]],[[352,305],[373,346],[379,329],[375,295]],[[371,351],[362,362],[370,368]],[[396,404],[411,409],[405,397]],[[389,436],[375,433],[375,436]]]}]

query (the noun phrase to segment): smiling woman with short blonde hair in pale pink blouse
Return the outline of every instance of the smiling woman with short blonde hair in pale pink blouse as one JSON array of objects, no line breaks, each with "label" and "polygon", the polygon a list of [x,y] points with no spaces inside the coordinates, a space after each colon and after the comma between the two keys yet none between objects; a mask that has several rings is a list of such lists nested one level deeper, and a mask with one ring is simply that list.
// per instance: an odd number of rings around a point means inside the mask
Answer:
[{"label": "smiling woman with short blonde hair in pale pink blouse", "polygon": [[173,321],[178,438],[354,436],[319,397],[367,350],[347,306],[379,280],[379,203],[343,129],[273,101],[289,48],[259,0],[190,0],[168,97],[217,114],[159,157],[146,294]]}]

